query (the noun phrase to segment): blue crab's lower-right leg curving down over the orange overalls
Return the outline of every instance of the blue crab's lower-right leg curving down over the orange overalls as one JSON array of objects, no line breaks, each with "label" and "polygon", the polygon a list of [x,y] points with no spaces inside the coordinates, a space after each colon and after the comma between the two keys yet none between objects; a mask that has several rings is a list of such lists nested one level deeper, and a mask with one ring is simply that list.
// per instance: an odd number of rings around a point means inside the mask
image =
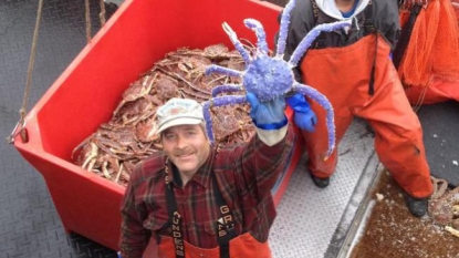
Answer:
[{"label": "blue crab's lower-right leg curving down over the orange overalls", "polygon": [[325,95],[320,93],[314,87],[295,83],[293,85],[293,91],[299,92],[307,97],[311,97],[313,101],[317,102],[326,111],[326,130],[328,132],[328,151],[325,156],[325,161],[332,155],[333,149],[335,148],[335,115],[333,106],[330,103],[328,99]]}]

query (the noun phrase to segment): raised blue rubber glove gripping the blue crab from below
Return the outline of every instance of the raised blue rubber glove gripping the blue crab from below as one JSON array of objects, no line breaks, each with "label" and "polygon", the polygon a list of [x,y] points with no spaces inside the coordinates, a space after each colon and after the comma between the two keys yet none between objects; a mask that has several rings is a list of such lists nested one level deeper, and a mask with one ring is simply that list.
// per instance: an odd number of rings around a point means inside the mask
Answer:
[{"label": "raised blue rubber glove gripping the blue crab from below", "polygon": [[285,116],[285,100],[283,96],[269,102],[259,102],[253,93],[247,93],[247,101],[250,103],[250,117],[257,127],[262,130],[278,130],[289,121]]}]

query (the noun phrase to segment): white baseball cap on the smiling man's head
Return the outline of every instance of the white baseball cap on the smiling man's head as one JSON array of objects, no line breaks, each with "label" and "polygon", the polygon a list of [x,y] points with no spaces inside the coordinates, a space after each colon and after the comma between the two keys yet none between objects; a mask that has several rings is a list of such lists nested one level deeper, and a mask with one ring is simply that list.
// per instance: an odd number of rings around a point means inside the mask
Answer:
[{"label": "white baseball cap on the smiling man's head", "polygon": [[204,122],[202,106],[194,100],[173,97],[156,111],[157,134],[176,125]]}]

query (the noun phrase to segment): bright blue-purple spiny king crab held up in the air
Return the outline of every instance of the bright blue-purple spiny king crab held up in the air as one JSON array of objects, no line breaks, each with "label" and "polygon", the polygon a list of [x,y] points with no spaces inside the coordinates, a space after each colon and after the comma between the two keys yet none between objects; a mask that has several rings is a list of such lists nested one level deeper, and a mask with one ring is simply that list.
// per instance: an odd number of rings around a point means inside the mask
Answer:
[{"label": "bright blue-purple spiny king crab held up in the air", "polygon": [[300,42],[295,51],[293,51],[290,61],[284,61],[284,50],[288,35],[288,28],[290,22],[290,12],[293,10],[296,0],[291,0],[284,8],[281,17],[279,40],[277,43],[277,52],[274,56],[269,56],[267,44],[267,35],[262,24],[254,19],[246,19],[247,28],[253,30],[257,35],[257,51],[252,55],[243,48],[238,40],[236,32],[225,22],[222,24],[225,32],[229,35],[236,50],[239,51],[246,62],[247,69],[244,71],[237,71],[219,65],[209,65],[206,69],[206,74],[221,73],[229,76],[239,76],[242,79],[241,84],[223,84],[212,89],[212,99],[202,103],[204,115],[206,120],[206,130],[210,142],[215,142],[212,133],[212,121],[210,115],[210,107],[242,104],[247,103],[246,95],[220,95],[220,93],[231,93],[244,90],[251,92],[259,99],[260,102],[272,101],[279,96],[286,96],[292,93],[301,93],[309,96],[311,100],[317,102],[326,110],[326,127],[328,131],[328,157],[335,147],[335,125],[334,112],[330,101],[322,93],[315,89],[301,84],[295,81],[292,69],[298,65],[305,51],[310,48],[312,42],[319,37],[321,32],[330,32],[344,27],[351,25],[348,21],[337,21],[327,24],[320,24],[312,29],[304,39]]}]

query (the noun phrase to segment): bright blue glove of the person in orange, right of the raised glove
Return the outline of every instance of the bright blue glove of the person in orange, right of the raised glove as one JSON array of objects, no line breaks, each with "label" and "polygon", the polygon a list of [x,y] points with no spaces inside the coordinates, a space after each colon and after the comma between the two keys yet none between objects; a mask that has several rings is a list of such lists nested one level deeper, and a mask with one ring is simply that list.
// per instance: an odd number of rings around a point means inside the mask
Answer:
[{"label": "bright blue glove of the person in orange, right of the raised glove", "polygon": [[317,117],[315,116],[314,111],[311,110],[310,103],[307,103],[306,99],[302,94],[296,93],[285,100],[290,107],[294,111],[293,121],[296,126],[307,132],[314,132]]}]

